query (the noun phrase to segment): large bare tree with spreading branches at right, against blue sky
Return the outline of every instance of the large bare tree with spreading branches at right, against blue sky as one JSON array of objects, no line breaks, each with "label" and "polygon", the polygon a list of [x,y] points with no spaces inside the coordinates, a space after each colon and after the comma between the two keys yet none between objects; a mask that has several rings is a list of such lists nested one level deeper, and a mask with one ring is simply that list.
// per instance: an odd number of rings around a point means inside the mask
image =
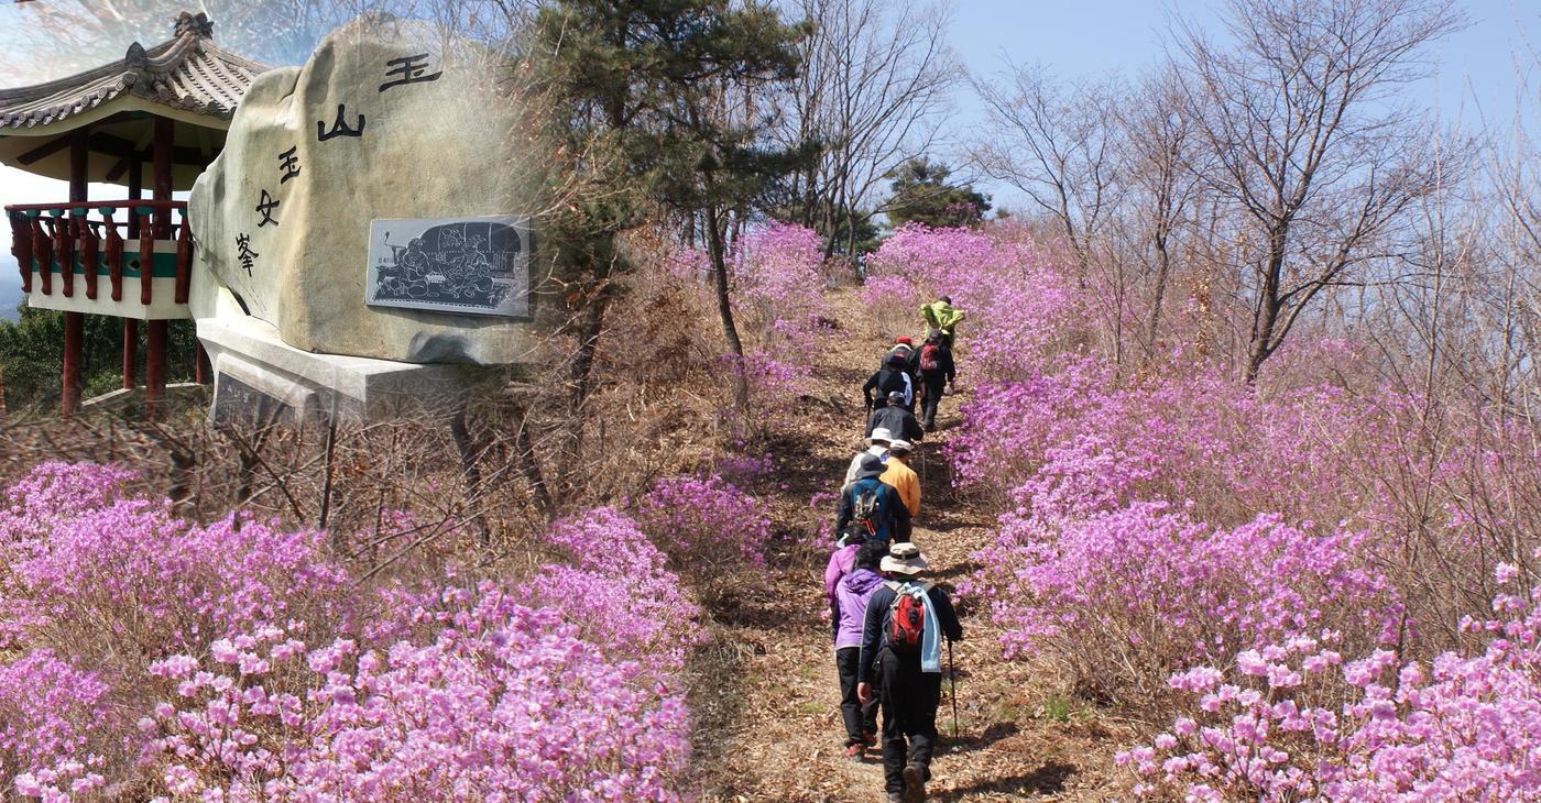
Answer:
[{"label": "large bare tree with spreading branches at right, against blue sky", "polygon": [[1257,376],[1327,288],[1355,282],[1435,186],[1435,133],[1395,91],[1458,29],[1450,0],[1230,0],[1225,49],[1179,23],[1183,111],[1214,157],[1210,188],[1247,222],[1241,254]]}]

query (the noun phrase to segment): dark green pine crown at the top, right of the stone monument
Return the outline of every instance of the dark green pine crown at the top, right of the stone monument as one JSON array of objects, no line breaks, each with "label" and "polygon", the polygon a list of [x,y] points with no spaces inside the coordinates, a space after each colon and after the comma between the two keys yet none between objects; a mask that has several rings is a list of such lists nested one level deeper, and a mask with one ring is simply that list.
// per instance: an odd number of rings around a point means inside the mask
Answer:
[{"label": "dark green pine crown at the top, right of the stone monument", "polygon": [[729,0],[556,0],[536,17],[562,139],[598,173],[590,228],[623,230],[652,203],[743,208],[811,146],[763,145],[769,117],[744,92],[795,77],[801,26]]}]

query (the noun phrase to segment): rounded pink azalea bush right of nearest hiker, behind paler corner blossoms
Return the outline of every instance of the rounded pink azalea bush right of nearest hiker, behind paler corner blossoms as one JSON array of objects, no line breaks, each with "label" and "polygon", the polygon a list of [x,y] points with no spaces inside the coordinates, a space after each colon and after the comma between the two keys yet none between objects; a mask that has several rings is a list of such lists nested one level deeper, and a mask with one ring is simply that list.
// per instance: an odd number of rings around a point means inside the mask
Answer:
[{"label": "rounded pink azalea bush right of nearest hiker, behind paler corner blossoms", "polygon": [[1148,706],[1162,700],[1165,672],[1324,623],[1395,638],[1401,606],[1359,559],[1364,546],[1364,533],[1277,515],[1214,527],[1167,502],[1057,527],[1011,513],[972,590],[1005,626],[1008,657],[1048,649],[1082,689]]}]

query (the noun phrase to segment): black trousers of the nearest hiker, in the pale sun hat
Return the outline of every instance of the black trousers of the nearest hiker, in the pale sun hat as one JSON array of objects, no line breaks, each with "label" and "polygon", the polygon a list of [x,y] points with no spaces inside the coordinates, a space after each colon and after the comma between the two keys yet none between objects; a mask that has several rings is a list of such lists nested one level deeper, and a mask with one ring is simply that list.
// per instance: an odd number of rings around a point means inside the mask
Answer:
[{"label": "black trousers of the nearest hiker, in the pale sun hat", "polygon": [[922,672],[918,655],[900,658],[888,647],[883,647],[877,661],[877,697],[883,707],[885,789],[903,792],[905,764],[920,764],[922,777],[931,780],[942,675]]}]

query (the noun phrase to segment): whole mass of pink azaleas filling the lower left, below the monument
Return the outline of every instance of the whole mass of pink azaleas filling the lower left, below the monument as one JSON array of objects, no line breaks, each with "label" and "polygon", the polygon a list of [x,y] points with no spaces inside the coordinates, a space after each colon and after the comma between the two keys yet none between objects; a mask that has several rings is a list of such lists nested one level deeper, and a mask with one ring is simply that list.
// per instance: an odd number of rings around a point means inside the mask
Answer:
[{"label": "whole mass of pink azaleas filling the lower left, below the monument", "polygon": [[681,797],[698,612],[632,519],[555,524],[518,581],[410,587],[316,532],[185,522],[128,479],[55,464],[8,489],[8,795]]}]

